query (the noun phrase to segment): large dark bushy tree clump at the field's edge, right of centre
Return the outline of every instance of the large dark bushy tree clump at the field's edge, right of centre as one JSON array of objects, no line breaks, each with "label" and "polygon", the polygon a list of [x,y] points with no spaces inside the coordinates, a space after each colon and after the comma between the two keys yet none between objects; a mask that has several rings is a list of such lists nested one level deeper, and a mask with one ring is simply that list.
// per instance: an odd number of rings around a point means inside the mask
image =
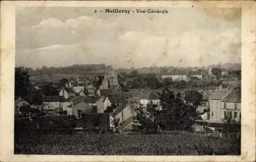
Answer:
[{"label": "large dark bushy tree clump at the field's edge, right of centre", "polygon": [[158,93],[161,109],[152,102],[140,106],[134,117],[134,129],[144,133],[155,133],[158,128],[164,130],[192,130],[196,110],[186,104],[178,93],[176,96],[167,88]]}]

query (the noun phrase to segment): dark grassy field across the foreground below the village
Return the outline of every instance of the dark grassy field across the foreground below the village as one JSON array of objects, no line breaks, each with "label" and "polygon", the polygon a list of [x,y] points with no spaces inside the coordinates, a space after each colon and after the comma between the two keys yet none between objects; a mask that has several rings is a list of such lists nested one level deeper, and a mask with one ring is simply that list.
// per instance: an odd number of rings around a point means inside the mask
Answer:
[{"label": "dark grassy field across the foreground below the village", "polygon": [[19,134],[15,154],[53,155],[239,155],[238,140],[188,134]]}]

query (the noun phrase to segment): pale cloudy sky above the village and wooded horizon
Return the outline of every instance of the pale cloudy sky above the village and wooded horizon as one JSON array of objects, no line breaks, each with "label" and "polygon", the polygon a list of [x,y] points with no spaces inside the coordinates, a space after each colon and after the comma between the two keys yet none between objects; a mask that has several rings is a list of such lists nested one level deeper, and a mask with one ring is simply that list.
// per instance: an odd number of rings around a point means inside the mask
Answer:
[{"label": "pale cloudy sky above the village and wooded horizon", "polygon": [[168,14],[94,10],[16,8],[16,66],[104,63],[140,68],[241,62],[240,9],[167,8]]}]

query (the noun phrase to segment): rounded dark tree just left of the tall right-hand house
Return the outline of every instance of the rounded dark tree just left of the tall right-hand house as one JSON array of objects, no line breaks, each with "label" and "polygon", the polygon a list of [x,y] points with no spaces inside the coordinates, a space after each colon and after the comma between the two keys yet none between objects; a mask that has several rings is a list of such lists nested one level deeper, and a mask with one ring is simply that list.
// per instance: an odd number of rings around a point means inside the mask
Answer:
[{"label": "rounded dark tree just left of the tall right-hand house", "polygon": [[203,95],[195,90],[187,90],[185,91],[185,101],[189,104],[194,105],[196,108],[201,105],[203,101]]}]

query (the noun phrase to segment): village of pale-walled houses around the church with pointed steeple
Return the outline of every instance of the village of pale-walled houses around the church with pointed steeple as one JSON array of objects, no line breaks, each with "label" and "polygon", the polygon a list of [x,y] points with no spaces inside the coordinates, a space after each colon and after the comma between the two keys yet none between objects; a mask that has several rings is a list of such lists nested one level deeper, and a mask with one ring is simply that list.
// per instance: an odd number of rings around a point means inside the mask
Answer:
[{"label": "village of pale-walled houses around the church with pointed steeple", "polygon": [[[120,77],[120,74],[111,65],[106,66],[103,74],[103,76],[95,76],[94,80],[82,80],[80,77],[63,78],[62,81],[64,83],[62,86],[55,83],[45,83],[50,84],[50,87],[55,88],[58,93],[56,95],[40,93],[41,104],[32,103],[31,95],[28,95],[30,97],[27,97],[27,99],[15,96],[15,120],[33,121],[35,118],[48,119],[54,116],[75,116],[76,119],[79,119],[86,114],[105,114],[107,117],[104,118],[105,121],[102,121],[104,129],[131,131],[134,124],[134,115],[138,107],[146,107],[150,103],[161,107],[158,95],[161,92],[159,90],[161,88],[151,90],[145,90],[146,88],[131,89],[131,86],[129,87],[127,83],[120,82],[120,80],[124,80],[122,79],[123,76]],[[212,74],[212,68],[208,71],[185,69],[169,70],[166,73],[157,74],[156,78],[161,83],[166,83],[167,81],[199,81],[205,79],[205,77],[219,81],[225,75],[228,75],[227,70],[222,71],[222,77],[217,79]],[[210,88],[205,88],[206,86],[201,88],[193,87],[193,91],[202,95],[200,104],[196,107],[195,131],[205,132],[206,127],[203,127],[203,125],[206,124],[208,125],[207,128],[210,128],[210,132],[216,132],[216,128],[223,124],[223,119],[227,114],[234,120],[241,120],[240,79],[238,75],[226,78],[225,81],[222,80],[221,84]],[[31,93],[42,92],[42,86],[36,84],[35,81],[30,80],[30,84],[32,85]],[[174,90],[175,88],[169,89]],[[176,93],[179,92],[185,102],[185,91],[187,90],[189,89],[180,88],[177,90],[176,88]],[[115,124],[114,120],[117,119],[119,123]],[[86,124],[83,123],[83,125]],[[95,128],[95,125],[91,124],[91,127]],[[79,128],[83,129],[84,126],[80,125]],[[218,134],[218,136],[221,135]]]}]

